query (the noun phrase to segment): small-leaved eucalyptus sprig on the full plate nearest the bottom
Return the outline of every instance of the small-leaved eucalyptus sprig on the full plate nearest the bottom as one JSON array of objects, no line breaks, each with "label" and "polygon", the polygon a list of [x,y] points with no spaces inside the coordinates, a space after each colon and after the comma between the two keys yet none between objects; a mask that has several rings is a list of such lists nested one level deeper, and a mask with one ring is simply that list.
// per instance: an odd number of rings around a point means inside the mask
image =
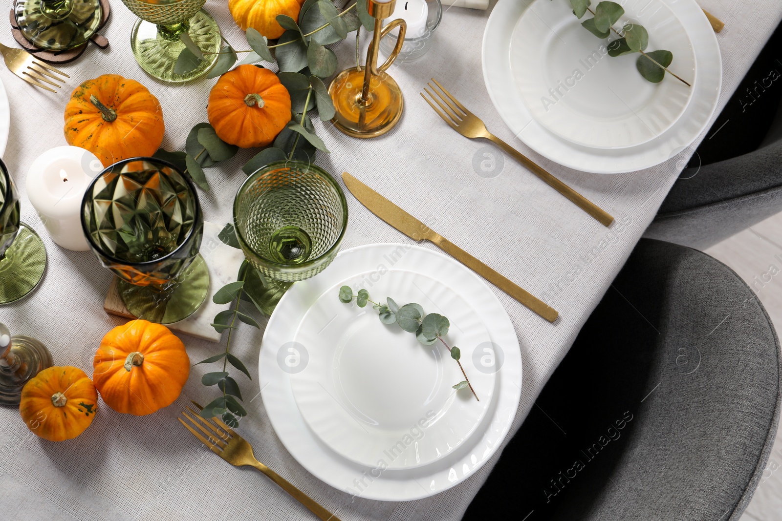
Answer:
[{"label": "small-leaved eucalyptus sprig on the full plate nearest the bottom", "polygon": [[411,303],[400,306],[391,297],[386,298],[386,304],[371,301],[369,299],[369,291],[365,289],[361,289],[357,294],[353,294],[353,289],[350,286],[339,288],[339,302],[350,304],[350,302],[353,302],[353,298],[356,299],[356,305],[360,308],[366,306],[368,302],[371,303],[372,309],[378,312],[378,318],[382,323],[393,324],[396,322],[403,330],[415,334],[416,339],[421,344],[432,345],[436,341],[440,341],[450,352],[450,358],[456,360],[459,369],[461,369],[461,374],[465,376],[465,380],[451,387],[454,387],[457,391],[469,387],[475,399],[480,401],[478,394],[475,394],[475,389],[470,384],[465,368],[459,362],[461,351],[455,345],[453,347],[448,345],[443,338],[448,334],[448,328],[450,327],[447,317],[439,313],[424,313],[424,309],[420,304]]}]

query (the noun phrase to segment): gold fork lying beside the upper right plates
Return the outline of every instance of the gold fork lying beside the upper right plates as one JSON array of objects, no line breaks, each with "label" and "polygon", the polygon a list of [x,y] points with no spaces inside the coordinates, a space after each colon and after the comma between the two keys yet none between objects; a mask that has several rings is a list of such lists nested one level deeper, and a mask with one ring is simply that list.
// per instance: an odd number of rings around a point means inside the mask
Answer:
[{"label": "gold fork lying beside the upper right plates", "polygon": [[[576,206],[578,206],[580,209],[583,209],[584,212],[587,212],[590,214],[590,216],[593,216],[595,219],[600,221],[600,223],[604,226],[607,227],[614,222],[614,218],[608,215],[608,213],[603,209],[599,208],[593,202],[590,202],[589,199],[573,190],[561,180],[558,180],[556,177],[552,176],[551,173],[543,170],[543,168],[536,165],[535,162],[527,158],[525,155],[522,155],[521,152],[518,152],[518,150],[511,147],[511,145],[508,145],[508,143],[502,141],[499,137],[491,134],[489,130],[486,130],[486,125],[483,124],[482,120],[480,120],[478,116],[475,116],[475,114],[466,109],[465,105],[459,103],[457,99],[450,95],[450,92],[448,92],[442,85],[440,85],[437,80],[432,78],[432,81],[434,81],[437,87],[443,91],[444,95],[440,94],[435,87],[432,87],[432,84],[428,84],[429,87],[432,88],[432,92],[429,92],[429,89],[426,87],[424,87],[424,90],[427,94],[429,94],[429,96],[432,97],[432,100],[434,100],[434,102],[439,105],[440,109],[443,109],[445,114],[437,109],[437,107],[431,101],[429,101],[429,98],[427,98],[423,92],[421,92],[421,97],[423,97],[426,102],[429,103],[432,109],[434,109],[435,112],[437,112],[437,114],[439,114],[439,116],[443,118],[443,120],[445,120],[445,122],[448,123],[459,134],[465,137],[469,137],[470,139],[477,139],[482,137],[483,139],[492,141],[505,152],[508,152],[508,154],[518,159],[522,165],[526,166],[529,170],[532,170],[532,173],[534,173],[537,177],[540,177],[540,179],[544,180],[551,187],[554,187],[554,189],[560,194],[564,195],[566,198],[569,198],[570,201],[575,203]],[[440,100],[442,100],[442,102]],[[445,102],[444,105],[443,102]]]}]

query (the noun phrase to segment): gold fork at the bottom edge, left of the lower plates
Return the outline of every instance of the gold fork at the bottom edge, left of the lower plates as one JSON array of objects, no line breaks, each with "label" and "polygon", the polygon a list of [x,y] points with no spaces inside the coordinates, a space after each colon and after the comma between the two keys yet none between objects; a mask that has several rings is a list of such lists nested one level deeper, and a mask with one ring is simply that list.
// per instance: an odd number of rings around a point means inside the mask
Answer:
[{"label": "gold fork at the bottom edge, left of the lower plates", "polygon": [[[203,407],[195,403],[195,401],[192,403],[199,409],[203,409]],[[331,512],[328,512],[328,510],[324,509],[321,505],[318,505],[317,501],[310,498],[307,494],[304,494],[298,488],[294,487],[289,483],[288,480],[285,480],[284,477],[280,476],[278,473],[275,473],[274,470],[255,459],[255,455],[253,455],[253,447],[243,437],[239,436],[239,434],[236,434],[234,430],[231,429],[231,427],[223,423],[221,419],[214,417],[210,422],[209,420],[199,416],[199,413],[195,412],[193,409],[190,409],[187,406],[185,406],[185,409],[191,412],[192,415],[188,414],[187,411],[182,411],[182,416],[185,416],[185,418],[188,419],[190,423],[198,427],[198,429],[203,434],[206,434],[206,437],[203,437],[201,434],[196,432],[192,426],[189,426],[187,423],[185,423],[185,420],[181,418],[177,419],[187,428],[187,430],[192,432],[195,437],[197,437],[203,444],[205,444],[206,447],[212,449],[215,454],[220,456],[225,461],[231,463],[231,465],[249,465],[260,470],[260,472],[269,476],[269,478],[274,481],[274,483],[282,487],[285,492],[291,494],[293,498],[299,501],[302,505],[306,506],[307,509],[310,509],[310,511],[312,511],[315,516],[323,519],[323,521],[339,521],[337,516]],[[196,421],[196,419],[198,421]],[[206,430],[204,426],[208,427],[211,432]]]}]

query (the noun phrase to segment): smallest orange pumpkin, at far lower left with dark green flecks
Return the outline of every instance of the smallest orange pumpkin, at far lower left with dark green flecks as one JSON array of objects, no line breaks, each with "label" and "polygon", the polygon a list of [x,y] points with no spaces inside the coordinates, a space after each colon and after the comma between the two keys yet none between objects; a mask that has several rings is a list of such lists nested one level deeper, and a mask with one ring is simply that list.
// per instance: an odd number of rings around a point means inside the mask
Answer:
[{"label": "smallest orange pumpkin, at far lower left with dark green flecks", "polygon": [[24,385],[19,412],[27,428],[45,440],[70,440],[92,423],[98,393],[81,369],[49,367]]}]

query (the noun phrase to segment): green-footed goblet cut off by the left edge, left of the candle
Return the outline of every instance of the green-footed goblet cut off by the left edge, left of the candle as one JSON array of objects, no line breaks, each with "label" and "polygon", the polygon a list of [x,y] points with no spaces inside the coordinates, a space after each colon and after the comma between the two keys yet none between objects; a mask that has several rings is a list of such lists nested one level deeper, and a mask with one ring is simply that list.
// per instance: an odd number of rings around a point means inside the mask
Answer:
[{"label": "green-footed goblet cut off by the left edge, left of the candle", "polygon": [[0,304],[33,291],[46,269],[41,237],[20,221],[19,195],[0,160]]}]

